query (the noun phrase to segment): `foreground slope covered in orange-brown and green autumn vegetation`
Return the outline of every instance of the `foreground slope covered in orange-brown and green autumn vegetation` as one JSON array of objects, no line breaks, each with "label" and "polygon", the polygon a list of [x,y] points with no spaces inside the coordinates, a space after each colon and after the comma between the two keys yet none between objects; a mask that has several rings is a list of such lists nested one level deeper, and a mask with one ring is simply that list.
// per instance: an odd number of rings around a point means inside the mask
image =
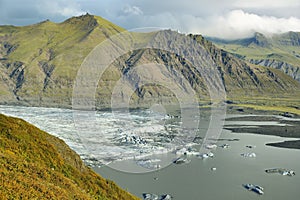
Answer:
[{"label": "foreground slope covered in orange-brown and green autumn vegetation", "polygon": [[0,199],[137,199],[87,168],[62,140],[0,114]]}]

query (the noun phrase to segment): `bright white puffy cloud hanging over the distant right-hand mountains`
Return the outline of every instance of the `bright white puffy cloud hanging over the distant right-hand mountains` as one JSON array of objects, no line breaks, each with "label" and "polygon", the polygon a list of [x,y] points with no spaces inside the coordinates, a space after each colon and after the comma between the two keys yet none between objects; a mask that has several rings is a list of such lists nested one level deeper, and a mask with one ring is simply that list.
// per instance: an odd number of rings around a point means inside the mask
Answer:
[{"label": "bright white puffy cloud hanging over the distant right-hand mountains", "polygon": [[209,24],[203,24],[203,20],[199,21],[198,31],[205,35],[229,39],[247,37],[254,32],[270,35],[300,31],[300,19],[298,18],[259,16],[242,10],[233,10],[225,16],[208,18],[206,21]]}]

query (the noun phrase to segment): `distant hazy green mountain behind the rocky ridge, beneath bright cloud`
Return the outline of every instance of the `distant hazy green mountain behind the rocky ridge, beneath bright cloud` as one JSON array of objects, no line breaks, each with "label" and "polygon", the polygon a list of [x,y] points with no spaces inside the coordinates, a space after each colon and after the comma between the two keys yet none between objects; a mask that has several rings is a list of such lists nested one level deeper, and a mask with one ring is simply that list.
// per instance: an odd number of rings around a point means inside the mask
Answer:
[{"label": "distant hazy green mountain behind the rocky ridge, beneath bright cloud", "polygon": [[208,38],[238,58],[250,63],[279,69],[300,81],[300,33],[288,32],[264,36],[255,33],[253,37],[240,40]]}]

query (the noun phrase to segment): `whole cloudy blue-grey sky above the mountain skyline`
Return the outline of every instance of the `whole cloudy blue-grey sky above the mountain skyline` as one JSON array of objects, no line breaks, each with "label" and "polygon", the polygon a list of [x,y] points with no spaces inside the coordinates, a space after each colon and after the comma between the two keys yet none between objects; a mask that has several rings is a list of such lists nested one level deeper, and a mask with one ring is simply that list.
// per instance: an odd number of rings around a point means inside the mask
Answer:
[{"label": "whole cloudy blue-grey sky above the mountain skyline", "polygon": [[86,13],[129,30],[159,27],[224,39],[300,32],[300,0],[0,0],[1,25]]}]

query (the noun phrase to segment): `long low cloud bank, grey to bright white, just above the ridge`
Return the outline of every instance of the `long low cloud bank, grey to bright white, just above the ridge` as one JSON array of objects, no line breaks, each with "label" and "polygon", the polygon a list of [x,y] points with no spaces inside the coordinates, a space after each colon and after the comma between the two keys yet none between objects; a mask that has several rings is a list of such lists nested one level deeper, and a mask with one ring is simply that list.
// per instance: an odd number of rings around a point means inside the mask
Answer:
[{"label": "long low cloud bank, grey to bright white, just above the ridge", "polygon": [[174,15],[169,12],[156,15],[121,16],[120,23],[131,28],[161,27],[183,33],[203,34],[224,39],[239,39],[252,36],[255,32],[266,35],[288,31],[300,32],[300,19],[296,17],[274,17],[258,15],[243,10],[232,10],[222,15],[197,17]]}]

